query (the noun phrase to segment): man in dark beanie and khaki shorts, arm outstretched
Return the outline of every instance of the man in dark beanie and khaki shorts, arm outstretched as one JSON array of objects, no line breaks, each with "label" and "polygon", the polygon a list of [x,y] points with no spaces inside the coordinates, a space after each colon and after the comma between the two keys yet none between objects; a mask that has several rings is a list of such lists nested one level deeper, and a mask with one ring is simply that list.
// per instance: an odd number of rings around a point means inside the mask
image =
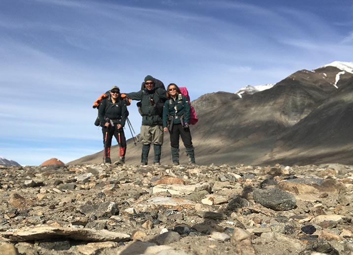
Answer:
[{"label": "man in dark beanie and khaki shorts, arm outstretched", "polygon": [[160,164],[161,146],[163,144],[162,109],[166,100],[163,88],[155,87],[156,80],[151,75],[144,79],[144,88],[138,92],[126,93],[131,100],[141,101],[141,165],[147,165],[151,144],[155,153],[154,164]]}]

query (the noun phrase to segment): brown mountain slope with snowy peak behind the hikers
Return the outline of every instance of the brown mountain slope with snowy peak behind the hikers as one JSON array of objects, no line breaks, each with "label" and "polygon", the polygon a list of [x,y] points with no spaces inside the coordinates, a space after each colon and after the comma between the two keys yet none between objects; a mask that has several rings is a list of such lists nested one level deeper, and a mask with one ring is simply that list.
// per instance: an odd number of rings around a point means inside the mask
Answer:
[{"label": "brown mountain slope with snowy peak behind the hikers", "polygon": [[[353,164],[352,62],[299,70],[267,87],[210,93],[192,102],[199,118],[191,127],[197,163]],[[186,163],[180,144],[181,163]],[[117,148],[112,152],[117,159]],[[127,162],[139,163],[140,154],[141,145],[128,141]],[[169,155],[166,134],[162,164],[170,163]],[[70,163],[101,161],[99,152]]]}]

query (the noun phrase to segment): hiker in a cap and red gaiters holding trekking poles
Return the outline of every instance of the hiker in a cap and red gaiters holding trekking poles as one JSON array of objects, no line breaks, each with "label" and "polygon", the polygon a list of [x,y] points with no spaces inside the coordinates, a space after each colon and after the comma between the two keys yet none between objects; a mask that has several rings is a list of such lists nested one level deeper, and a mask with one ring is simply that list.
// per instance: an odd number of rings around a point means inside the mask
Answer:
[{"label": "hiker in a cap and red gaiters holding trekking poles", "polygon": [[110,147],[114,136],[120,146],[119,163],[125,163],[126,137],[123,127],[128,118],[128,108],[125,100],[120,96],[119,87],[113,86],[110,89],[109,96],[101,101],[98,109],[98,118],[103,133],[103,162],[111,163]]}]

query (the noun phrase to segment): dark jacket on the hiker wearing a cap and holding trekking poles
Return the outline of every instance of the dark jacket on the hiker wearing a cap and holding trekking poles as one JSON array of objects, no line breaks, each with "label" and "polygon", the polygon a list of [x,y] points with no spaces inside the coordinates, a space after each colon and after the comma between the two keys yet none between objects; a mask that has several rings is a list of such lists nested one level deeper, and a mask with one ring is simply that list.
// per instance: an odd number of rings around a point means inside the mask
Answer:
[{"label": "dark jacket on the hiker wearing a cap and holding trekking poles", "polygon": [[125,126],[126,119],[128,118],[128,108],[125,101],[119,96],[115,103],[112,102],[111,96],[104,98],[98,108],[98,117],[100,126],[103,127],[106,118],[119,123],[122,127]]}]

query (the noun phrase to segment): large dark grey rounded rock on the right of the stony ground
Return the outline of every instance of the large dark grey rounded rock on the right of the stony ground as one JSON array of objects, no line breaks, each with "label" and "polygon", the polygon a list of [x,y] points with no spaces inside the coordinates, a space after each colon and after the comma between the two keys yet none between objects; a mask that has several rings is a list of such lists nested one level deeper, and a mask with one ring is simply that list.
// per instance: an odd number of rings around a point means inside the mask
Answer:
[{"label": "large dark grey rounded rock on the right of the stony ground", "polygon": [[260,190],[253,192],[255,202],[275,211],[293,209],[296,205],[295,196],[280,189]]}]

